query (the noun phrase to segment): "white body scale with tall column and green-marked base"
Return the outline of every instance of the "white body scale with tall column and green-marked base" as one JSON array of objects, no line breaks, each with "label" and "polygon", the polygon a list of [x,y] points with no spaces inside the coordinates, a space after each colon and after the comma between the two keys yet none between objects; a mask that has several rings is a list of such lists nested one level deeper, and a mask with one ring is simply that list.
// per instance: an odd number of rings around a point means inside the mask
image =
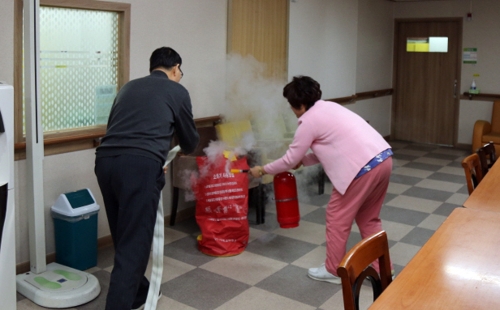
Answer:
[{"label": "white body scale with tall column and green-marked base", "polygon": [[[24,0],[27,212],[31,271],[16,276],[17,291],[47,308],[71,308],[95,299],[92,274],[57,263],[46,265],[43,199],[43,129],[39,100],[39,0]],[[20,91],[20,90],[17,90]]]}]

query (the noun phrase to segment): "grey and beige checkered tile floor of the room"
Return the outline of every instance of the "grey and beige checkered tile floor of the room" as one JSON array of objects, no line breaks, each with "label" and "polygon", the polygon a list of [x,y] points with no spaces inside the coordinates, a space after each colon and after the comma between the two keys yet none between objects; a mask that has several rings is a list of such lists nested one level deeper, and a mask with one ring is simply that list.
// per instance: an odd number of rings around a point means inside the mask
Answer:
[{"label": "grey and beige checkered tile floor of the room", "polygon": [[[381,218],[397,276],[468,197],[460,165],[467,152],[401,142],[391,145],[394,168]],[[250,242],[242,254],[233,257],[200,253],[194,219],[166,227],[163,296],[158,309],[343,309],[340,285],[307,277],[307,269],[325,259],[324,212],[331,184],[326,184],[324,195],[315,194],[313,186],[308,192],[309,197],[301,197],[302,218],[297,228],[279,228],[272,202],[266,207],[265,224],[252,224],[255,215],[250,209]],[[353,225],[347,247],[359,240],[359,230]],[[112,265],[112,247],[101,249],[98,266],[89,270],[99,279],[101,294],[75,309],[104,308]],[[17,297],[18,310],[45,309],[20,294]],[[371,298],[370,289],[363,287],[363,309]]]}]

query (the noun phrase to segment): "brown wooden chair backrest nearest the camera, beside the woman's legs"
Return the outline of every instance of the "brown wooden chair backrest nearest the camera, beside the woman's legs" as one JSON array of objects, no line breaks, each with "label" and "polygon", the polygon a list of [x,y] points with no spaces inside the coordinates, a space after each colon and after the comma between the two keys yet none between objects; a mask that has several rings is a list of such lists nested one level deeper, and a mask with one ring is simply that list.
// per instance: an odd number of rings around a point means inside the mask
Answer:
[{"label": "brown wooden chair backrest nearest the camera, beside the woman's legs", "polygon": [[[379,261],[380,275],[371,266]],[[385,231],[367,237],[356,244],[342,259],[337,274],[342,279],[345,310],[359,309],[359,292],[365,279],[373,289],[373,300],[392,282],[389,243]]]}]

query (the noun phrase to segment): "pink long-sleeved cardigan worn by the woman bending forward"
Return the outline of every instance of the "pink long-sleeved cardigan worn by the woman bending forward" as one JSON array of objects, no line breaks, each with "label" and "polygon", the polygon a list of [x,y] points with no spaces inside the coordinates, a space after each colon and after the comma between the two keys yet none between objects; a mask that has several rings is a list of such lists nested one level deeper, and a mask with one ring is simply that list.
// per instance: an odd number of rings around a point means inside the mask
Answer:
[{"label": "pink long-sleeved cardigan worn by the woman bending forward", "polygon": [[[391,146],[363,118],[330,101],[317,101],[299,119],[286,154],[264,166],[269,174],[295,167],[323,165],[334,188],[344,194],[358,172]],[[307,153],[311,149],[312,153]]]}]

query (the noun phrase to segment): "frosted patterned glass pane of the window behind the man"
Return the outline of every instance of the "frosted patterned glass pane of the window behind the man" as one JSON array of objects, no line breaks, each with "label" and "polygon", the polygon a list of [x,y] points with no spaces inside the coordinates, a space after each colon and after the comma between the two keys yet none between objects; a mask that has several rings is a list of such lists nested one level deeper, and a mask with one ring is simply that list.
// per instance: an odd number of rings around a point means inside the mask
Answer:
[{"label": "frosted patterned glass pane of the window behind the man", "polygon": [[106,124],[118,85],[118,18],[40,7],[44,132]]}]

